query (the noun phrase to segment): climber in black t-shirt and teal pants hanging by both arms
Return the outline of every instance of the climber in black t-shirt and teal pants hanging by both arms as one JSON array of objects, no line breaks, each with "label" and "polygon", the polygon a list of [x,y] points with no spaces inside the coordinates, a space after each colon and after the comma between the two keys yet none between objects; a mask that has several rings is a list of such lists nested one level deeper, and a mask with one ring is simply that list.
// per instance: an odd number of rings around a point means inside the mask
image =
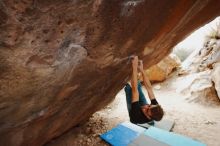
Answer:
[{"label": "climber in black t-shirt and teal pants hanging by both arms", "polygon": [[[141,83],[138,81],[138,70],[143,77],[144,87],[147,89],[151,104],[148,104],[143,94]],[[132,77],[131,86],[125,86],[127,108],[130,121],[134,124],[153,123],[160,121],[164,115],[163,109],[158,104],[151,83],[144,74],[143,62],[138,60],[138,56],[132,57]]]}]

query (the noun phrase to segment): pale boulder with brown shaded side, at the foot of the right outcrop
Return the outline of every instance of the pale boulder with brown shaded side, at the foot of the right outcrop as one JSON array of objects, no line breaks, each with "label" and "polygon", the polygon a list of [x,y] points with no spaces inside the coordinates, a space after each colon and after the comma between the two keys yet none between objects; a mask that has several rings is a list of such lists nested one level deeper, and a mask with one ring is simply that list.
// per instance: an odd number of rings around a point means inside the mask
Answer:
[{"label": "pale boulder with brown shaded side, at the foot of the right outcrop", "polygon": [[220,105],[211,80],[212,70],[191,73],[176,80],[176,91],[188,96],[189,102],[203,105]]}]

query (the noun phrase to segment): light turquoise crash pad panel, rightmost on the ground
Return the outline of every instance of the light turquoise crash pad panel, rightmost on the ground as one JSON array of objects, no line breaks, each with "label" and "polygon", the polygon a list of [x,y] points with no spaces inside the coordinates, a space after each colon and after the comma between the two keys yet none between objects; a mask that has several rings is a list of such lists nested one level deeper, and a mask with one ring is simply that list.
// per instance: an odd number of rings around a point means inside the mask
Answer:
[{"label": "light turquoise crash pad panel, rightmost on the ground", "polygon": [[156,127],[149,127],[144,134],[170,146],[206,146],[199,141]]}]

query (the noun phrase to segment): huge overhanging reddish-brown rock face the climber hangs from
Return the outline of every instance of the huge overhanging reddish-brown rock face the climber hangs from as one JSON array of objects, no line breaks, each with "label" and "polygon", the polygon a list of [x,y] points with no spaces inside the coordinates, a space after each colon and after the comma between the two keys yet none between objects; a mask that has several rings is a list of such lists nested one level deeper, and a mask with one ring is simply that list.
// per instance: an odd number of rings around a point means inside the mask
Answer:
[{"label": "huge overhanging reddish-brown rock face the climber hangs from", "polygon": [[219,0],[0,1],[0,143],[39,146],[220,14]]}]

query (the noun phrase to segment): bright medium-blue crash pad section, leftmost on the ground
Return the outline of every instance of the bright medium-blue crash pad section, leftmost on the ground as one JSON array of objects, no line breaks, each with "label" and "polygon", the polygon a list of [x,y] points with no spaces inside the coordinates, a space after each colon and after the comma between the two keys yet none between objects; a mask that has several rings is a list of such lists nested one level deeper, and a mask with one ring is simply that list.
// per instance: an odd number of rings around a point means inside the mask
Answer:
[{"label": "bright medium-blue crash pad section, leftmost on the ground", "polygon": [[119,124],[100,137],[113,146],[127,146],[138,135],[139,133]]}]

